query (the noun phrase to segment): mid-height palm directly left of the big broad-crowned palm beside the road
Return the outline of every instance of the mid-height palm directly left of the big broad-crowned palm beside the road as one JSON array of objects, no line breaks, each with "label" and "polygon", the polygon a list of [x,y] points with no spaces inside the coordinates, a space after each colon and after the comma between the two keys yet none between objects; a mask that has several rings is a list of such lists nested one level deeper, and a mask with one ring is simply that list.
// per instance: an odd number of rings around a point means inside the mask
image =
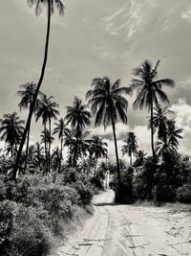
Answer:
[{"label": "mid-height palm directly left of the big broad-crowned palm beside the road", "polygon": [[82,105],[82,101],[77,97],[74,97],[73,106],[67,106],[67,114],[65,117],[66,125],[71,125],[71,128],[75,129],[73,133],[76,139],[76,147],[74,148],[74,166],[76,165],[77,153],[78,153],[78,144],[79,139],[82,135],[82,130],[86,126],[91,125],[91,113],[87,110],[87,105]]}]

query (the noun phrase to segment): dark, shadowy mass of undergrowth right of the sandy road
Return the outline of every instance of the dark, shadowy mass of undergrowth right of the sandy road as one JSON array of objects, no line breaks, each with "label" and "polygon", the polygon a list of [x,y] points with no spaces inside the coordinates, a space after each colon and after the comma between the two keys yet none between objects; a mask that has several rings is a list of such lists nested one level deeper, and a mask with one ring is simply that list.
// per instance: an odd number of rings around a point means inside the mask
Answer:
[{"label": "dark, shadowy mass of undergrowth right of the sandy road", "polygon": [[144,159],[140,168],[123,167],[121,185],[117,190],[117,175],[111,182],[117,201],[136,200],[191,203],[191,162],[180,153],[168,152],[162,159]]}]

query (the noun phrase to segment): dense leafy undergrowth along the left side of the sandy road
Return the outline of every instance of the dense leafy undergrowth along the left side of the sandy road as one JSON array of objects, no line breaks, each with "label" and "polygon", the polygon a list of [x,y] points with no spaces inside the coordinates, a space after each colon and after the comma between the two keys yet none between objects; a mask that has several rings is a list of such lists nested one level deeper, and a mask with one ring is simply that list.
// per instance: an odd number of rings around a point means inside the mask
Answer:
[{"label": "dense leafy undergrowth along the left side of the sandy road", "polygon": [[74,169],[64,174],[0,176],[0,255],[47,255],[79,209],[89,211],[96,187]]}]

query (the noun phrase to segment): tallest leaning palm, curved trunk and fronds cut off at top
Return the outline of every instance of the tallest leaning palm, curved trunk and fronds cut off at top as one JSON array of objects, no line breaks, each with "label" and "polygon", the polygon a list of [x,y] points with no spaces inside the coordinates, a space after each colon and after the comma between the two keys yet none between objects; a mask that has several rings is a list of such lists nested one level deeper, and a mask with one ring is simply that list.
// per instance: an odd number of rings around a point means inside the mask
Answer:
[{"label": "tallest leaning palm, curved trunk and fronds cut off at top", "polygon": [[23,151],[23,146],[24,146],[24,143],[25,143],[25,140],[26,140],[28,130],[31,127],[33,109],[34,109],[35,102],[36,102],[36,99],[37,99],[37,96],[38,96],[38,93],[39,93],[39,90],[40,90],[41,83],[42,83],[42,81],[44,79],[44,75],[45,75],[45,69],[46,69],[47,58],[48,58],[48,50],[49,50],[51,17],[52,17],[53,11],[54,11],[54,6],[56,6],[60,15],[62,15],[64,13],[64,5],[62,4],[62,2],[60,0],[28,0],[28,2],[31,6],[35,6],[36,14],[39,14],[41,12],[42,8],[45,5],[47,6],[47,9],[48,9],[47,35],[46,35],[44,59],[43,59],[41,74],[40,74],[39,81],[36,85],[35,93],[33,95],[32,105],[30,107],[28,120],[27,120],[26,127],[25,127],[23,135],[22,135],[20,147],[19,147],[19,150],[18,150],[18,153],[17,153],[15,164],[14,164],[14,168],[13,168],[13,172],[12,172],[12,179],[16,178],[16,173],[17,173],[17,169],[18,169],[19,160],[20,160],[20,157],[21,157],[21,154],[22,154],[22,151]]}]

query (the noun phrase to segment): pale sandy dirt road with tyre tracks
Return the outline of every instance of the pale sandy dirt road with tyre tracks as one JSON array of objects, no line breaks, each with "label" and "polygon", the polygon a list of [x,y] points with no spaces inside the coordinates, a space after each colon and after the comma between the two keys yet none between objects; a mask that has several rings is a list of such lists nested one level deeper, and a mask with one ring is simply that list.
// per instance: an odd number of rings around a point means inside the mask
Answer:
[{"label": "pale sandy dirt road with tyre tracks", "polygon": [[114,204],[109,190],[94,199],[95,214],[54,255],[191,255],[191,206]]}]

